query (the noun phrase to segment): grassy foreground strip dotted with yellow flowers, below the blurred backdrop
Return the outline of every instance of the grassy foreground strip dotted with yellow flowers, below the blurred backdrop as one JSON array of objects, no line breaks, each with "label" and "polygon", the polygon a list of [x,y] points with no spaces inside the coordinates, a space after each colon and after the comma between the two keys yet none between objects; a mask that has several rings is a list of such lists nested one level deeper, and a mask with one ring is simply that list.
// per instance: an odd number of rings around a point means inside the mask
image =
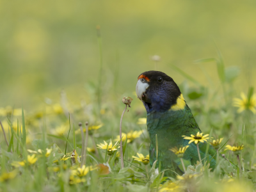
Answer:
[{"label": "grassy foreground strip dotted with yellow flowers, below the blurred backdrop", "polygon": [[[256,95],[252,87],[236,95],[236,76],[230,78],[221,60],[216,66],[222,84],[214,94],[177,68],[198,84],[180,88],[201,130],[210,134],[208,145],[227,158],[218,159],[213,172],[207,156],[175,178],[164,177],[155,164],[151,168],[146,114],[135,95],[122,122],[122,169],[118,127],[125,104],[122,97],[91,87],[90,104],[72,106],[62,91],[60,103],[45,100],[42,111],[0,109],[6,134],[6,140],[1,134],[1,191],[253,191]],[[178,156],[184,151],[172,150]]]}]

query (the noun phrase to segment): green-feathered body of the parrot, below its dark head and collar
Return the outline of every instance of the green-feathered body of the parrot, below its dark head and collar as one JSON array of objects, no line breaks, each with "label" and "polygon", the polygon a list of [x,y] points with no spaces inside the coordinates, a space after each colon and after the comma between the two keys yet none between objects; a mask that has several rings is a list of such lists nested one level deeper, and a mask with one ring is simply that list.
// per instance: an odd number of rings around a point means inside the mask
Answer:
[{"label": "green-feathered body of the parrot, below its dark head and collar", "polygon": [[[188,144],[189,140],[182,138],[183,135],[190,136],[198,131],[201,132],[187,105],[179,111],[148,113],[147,128],[150,136],[150,165],[158,160],[156,166],[159,166],[159,161],[161,161],[161,170],[166,170],[166,176],[174,177],[176,173],[179,175],[183,173],[180,158],[170,151],[172,147],[189,145],[183,157],[186,166],[196,164],[196,161],[199,161],[195,143]],[[158,141],[157,157],[156,134]],[[207,143],[200,143],[199,148],[201,159],[204,159]],[[216,154],[216,150],[210,146],[208,154],[209,159],[212,159],[210,168],[214,168],[216,164],[215,159],[212,158],[214,154]]]}]

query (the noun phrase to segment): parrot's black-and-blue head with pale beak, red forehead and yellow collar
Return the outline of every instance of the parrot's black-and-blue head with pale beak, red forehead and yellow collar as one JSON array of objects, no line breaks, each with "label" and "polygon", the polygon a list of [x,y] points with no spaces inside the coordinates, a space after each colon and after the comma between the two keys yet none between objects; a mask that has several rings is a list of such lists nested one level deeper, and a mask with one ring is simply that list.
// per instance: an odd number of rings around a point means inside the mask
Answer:
[{"label": "parrot's black-and-blue head with pale beak, red forehead and yellow collar", "polygon": [[172,77],[160,71],[150,70],[140,74],[136,94],[143,102],[147,113],[184,109],[186,105],[179,86]]}]

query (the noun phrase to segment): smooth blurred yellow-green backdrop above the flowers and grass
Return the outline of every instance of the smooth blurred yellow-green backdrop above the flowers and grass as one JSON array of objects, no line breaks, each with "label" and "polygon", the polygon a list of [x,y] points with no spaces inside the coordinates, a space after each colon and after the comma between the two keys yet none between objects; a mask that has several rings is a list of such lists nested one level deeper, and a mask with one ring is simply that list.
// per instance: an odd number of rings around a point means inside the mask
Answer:
[{"label": "smooth blurred yellow-green backdrop above the flowers and grass", "polygon": [[[88,98],[86,84],[98,84],[102,35],[102,87],[131,96],[141,72],[157,70],[185,78],[181,68],[207,86],[220,84],[216,45],[226,67],[238,66],[237,91],[256,82],[255,1],[0,1],[0,106],[45,97],[58,100],[64,89],[72,102]],[[215,45],[216,44],[216,45]],[[134,96],[133,96],[134,97]],[[142,107],[142,106],[141,106]]]}]

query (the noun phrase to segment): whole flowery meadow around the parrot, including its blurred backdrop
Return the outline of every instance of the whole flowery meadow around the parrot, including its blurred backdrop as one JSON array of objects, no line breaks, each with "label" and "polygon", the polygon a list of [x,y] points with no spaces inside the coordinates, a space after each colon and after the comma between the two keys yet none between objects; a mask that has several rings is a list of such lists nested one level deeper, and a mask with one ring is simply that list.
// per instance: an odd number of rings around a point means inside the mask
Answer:
[{"label": "whole flowery meadow around the parrot, including its blurred backdrop", "polygon": [[[254,1],[0,1],[0,15],[0,191],[255,191]],[[214,171],[207,156],[175,178],[148,164],[135,86],[156,69],[225,155]]]}]

